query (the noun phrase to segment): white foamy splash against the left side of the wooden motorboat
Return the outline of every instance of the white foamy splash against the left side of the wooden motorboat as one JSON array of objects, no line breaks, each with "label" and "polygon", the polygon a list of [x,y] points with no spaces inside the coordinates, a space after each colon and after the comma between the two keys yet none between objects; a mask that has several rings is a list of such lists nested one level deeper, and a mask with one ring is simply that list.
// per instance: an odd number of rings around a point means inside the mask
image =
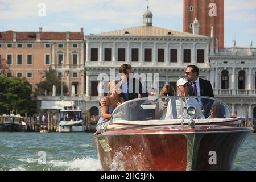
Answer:
[{"label": "white foamy splash against the left side of the wooden motorboat", "polygon": [[100,162],[97,159],[93,159],[89,157],[82,158],[82,159],[75,159],[69,162],[64,162],[60,160],[51,160],[47,164],[53,164],[54,166],[57,166],[57,167],[65,166],[65,167],[68,167],[69,170],[80,170],[80,171],[101,170]]}]

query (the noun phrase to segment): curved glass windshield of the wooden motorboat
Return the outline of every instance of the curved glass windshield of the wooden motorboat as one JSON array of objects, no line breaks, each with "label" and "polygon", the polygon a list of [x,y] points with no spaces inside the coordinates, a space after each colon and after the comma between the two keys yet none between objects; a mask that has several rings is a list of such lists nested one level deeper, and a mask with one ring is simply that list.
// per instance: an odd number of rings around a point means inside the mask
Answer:
[{"label": "curved glass windshield of the wooden motorboat", "polygon": [[[110,122],[230,118],[229,107],[221,100],[204,96],[148,97],[130,100],[119,105]],[[190,113],[191,114],[191,113]]]}]

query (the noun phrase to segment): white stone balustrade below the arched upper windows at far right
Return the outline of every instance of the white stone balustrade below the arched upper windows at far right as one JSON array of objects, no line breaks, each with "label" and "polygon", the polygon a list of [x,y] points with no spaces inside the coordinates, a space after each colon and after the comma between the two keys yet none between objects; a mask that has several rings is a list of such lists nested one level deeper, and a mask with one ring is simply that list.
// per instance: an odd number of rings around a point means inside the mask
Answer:
[{"label": "white stone balustrade below the arched upper windows at far right", "polygon": [[256,96],[256,90],[215,89],[214,94],[218,96]]}]

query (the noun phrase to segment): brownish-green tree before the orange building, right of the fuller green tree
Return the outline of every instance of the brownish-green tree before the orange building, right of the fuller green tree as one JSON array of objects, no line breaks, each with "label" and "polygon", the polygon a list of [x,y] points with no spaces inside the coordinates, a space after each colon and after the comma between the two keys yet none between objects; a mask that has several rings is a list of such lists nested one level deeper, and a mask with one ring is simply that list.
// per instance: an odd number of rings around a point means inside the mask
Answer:
[{"label": "brownish-green tree before the orange building, right of the fuller green tree", "polygon": [[[42,96],[46,90],[46,92],[52,93],[53,85],[56,86],[56,96],[61,95],[61,78],[57,76],[57,72],[55,69],[49,69],[44,71],[43,78],[46,80],[41,81],[39,84],[36,84],[36,94],[38,96]],[[63,82],[63,94],[68,92],[67,85]]]}]

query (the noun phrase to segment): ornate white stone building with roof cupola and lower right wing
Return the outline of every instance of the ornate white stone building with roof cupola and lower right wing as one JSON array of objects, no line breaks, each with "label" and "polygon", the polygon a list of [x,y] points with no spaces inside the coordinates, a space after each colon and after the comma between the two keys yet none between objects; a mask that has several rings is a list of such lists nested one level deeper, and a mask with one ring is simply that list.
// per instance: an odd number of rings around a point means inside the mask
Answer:
[{"label": "ornate white stone building with roof cupola and lower right wing", "polygon": [[[134,73],[159,73],[159,89],[165,84],[176,87],[188,64],[200,68],[200,77],[210,80],[216,97],[224,100],[232,115],[256,118],[256,49],[219,49],[211,37],[154,27],[152,13],[143,14],[143,26],[85,36],[85,108],[92,113],[101,111],[97,77],[110,76],[110,69],[123,63],[131,64]],[[153,87],[153,86],[152,86]]]}]

